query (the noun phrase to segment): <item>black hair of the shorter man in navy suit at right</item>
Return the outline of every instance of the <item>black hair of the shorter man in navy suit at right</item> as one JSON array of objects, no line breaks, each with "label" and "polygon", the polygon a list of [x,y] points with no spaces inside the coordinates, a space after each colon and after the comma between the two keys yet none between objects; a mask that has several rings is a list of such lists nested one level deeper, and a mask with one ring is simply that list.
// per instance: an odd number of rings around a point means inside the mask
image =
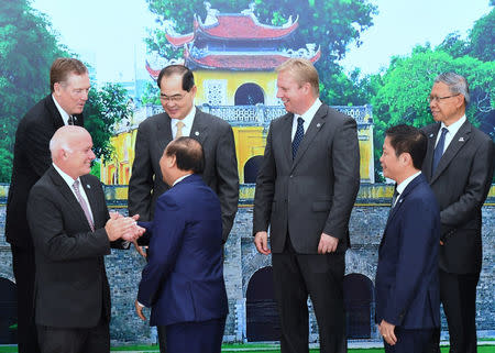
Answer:
[{"label": "black hair of the shorter man in navy suit at right", "polygon": [[427,137],[421,130],[400,124],[388,128],[385,135],[391,137],[391,145],[397,157],[403,153],[409,153],[414,167],[421,169],[428,145]]}]

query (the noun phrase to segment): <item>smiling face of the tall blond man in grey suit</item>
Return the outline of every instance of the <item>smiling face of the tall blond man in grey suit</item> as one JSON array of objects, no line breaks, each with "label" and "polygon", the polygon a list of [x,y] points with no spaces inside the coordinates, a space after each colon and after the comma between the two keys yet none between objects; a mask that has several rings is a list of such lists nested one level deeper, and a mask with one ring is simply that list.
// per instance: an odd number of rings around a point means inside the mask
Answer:
[{"label": "smiling face of the tall blond man in grey suit", "polygon": [[277,98],[284,102],[285,110],[295,114],[304,114],[315,102],[311,85],[300,85],[290,70],[278,73]]}]

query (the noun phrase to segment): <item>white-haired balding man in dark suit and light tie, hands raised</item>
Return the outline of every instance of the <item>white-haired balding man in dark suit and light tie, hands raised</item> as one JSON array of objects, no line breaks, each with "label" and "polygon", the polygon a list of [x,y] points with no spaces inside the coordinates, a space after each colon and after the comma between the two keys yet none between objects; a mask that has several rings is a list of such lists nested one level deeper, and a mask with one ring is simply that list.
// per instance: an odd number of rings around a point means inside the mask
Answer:
[{"label": "white-haired balding man in dark suit and light tie, hands raised", "polygon": [[58,129],[50,142],[53,166],[28,200],[36,258],[35,322],[43,353],[110,351],[103,255],[110,253],[111,242],[133,241],[144,231],[132,218],[109,219],[101,183],[88,174],[95,158],[91,147],[84,128]]}]

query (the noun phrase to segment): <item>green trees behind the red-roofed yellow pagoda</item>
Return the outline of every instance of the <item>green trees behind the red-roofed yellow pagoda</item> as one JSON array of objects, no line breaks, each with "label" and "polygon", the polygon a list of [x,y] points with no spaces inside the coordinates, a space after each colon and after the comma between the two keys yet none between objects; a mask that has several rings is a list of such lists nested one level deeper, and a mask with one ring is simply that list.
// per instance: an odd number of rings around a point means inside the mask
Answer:
[{"label": "green trees behind the red-roofed yellow pagoda", "polygon": [[[161,25],[173,23],[180,34],[193,32],[194,15],[206,18],[202,0],[146,0],[150,11]],[[240,12],[249,8],[252,0],[211,0],[211,7],[223,13]],[[295,47],[306,43],[321,46],[321,58],[316,64],[321,80],[321,98],[330,104],[361,104],[362,90],[356,80],[348,78],[337,64],[345,55],[351,43],[361,44],[361,34],[373,25],[372,15],[376,7],[362,0],[255,0],[255,14],[262,23],[282,25],[292,15],[299,15],[299,27]],[[165,37],[164,30],[157,29],[146,40],[150,51],[166,58],[182,57],[183,51],[174,49]]]}]

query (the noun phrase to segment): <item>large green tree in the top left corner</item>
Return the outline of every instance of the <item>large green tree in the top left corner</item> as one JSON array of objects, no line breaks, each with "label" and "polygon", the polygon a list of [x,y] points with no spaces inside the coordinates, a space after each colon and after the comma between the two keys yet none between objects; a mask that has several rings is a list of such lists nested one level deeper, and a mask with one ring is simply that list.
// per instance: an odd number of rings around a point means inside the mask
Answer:
[{"label": "large green tree in the top left corner", "polygon": [[10,181],[19,120],[47,93],[50,67],[64,53],[29,1],[0,1],[0,181]]}]

